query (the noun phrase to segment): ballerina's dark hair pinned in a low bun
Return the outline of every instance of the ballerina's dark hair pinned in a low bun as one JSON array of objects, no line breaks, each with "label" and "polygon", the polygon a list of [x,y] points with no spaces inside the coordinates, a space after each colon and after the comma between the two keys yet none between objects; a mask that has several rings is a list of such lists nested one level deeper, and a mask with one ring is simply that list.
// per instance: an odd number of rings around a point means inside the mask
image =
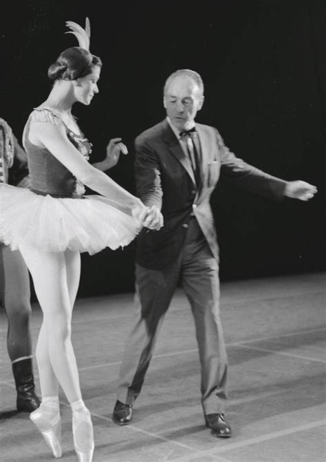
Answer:
[{"label": "ballerina's dark hair pinned in a low bun", "polygon": [[63,51],[55,63],[50,65],[47,75],[51,80],[76,80],[91,74],[94,66],[102,67],[98,56],[80,47]]}]

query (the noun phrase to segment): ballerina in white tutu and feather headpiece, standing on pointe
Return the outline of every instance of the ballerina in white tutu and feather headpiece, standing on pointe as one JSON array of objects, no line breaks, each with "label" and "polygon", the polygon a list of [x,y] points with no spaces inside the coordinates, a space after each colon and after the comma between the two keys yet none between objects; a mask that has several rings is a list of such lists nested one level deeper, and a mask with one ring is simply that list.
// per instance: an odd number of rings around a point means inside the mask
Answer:
[{"label": "ballerina in white tutu and feather headpiece, standing on pointe", "polygon": [[[98,94],[102,63],[89,52],[89,25],[86,31],[76,23],[67,25],[80,46],[68,48],[50,66],[52,90],[25,125],[23,146],[31,187],[0,186],[0,239],[21,251],[43,311],[36,346],[42,400],[30,417],[54,457],[61,457],[60,384],[72,406],[76,454],[79,461],[90,462],[93,426],[80,391],[71,339],[80,252],[95,254],[128,245],[148,208],[87,162],[91,145],[72,106],[89,105]],[[84,185],[100,195],[85,196]]]}]

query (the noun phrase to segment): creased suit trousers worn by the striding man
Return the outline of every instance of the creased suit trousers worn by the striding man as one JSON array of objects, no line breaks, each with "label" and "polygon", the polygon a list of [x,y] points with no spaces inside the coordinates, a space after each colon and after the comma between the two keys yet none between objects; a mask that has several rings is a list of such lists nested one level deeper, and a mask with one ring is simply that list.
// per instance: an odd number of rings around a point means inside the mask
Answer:
[{"label": "creased suit trousers worn by the striding man", "polygon": [[204,414],[224,412],[227,357],[219,311],[219,265],[191,217],[177,260],[162,270],[136,265],[135,320],[120,367],[118,400],[133,404],[149,367],[157,333],[178,283],[189,300],[201,364]]}]

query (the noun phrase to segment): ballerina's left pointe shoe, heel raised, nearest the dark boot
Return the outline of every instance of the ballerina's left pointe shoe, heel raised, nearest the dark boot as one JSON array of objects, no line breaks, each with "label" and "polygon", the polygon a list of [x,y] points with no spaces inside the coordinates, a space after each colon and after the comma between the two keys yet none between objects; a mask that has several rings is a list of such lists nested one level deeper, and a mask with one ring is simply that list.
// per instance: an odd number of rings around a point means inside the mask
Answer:
[{"label": "ballerina's left pointe shoe, heel raised, nearest the dark boot", "polygon": [[56,412],[51,416],[50,412],[42,412],[41,409],[36,409],[30,414],[30,419],[41,432],[54,457],[60,459],[62,456],[60,412]]}]

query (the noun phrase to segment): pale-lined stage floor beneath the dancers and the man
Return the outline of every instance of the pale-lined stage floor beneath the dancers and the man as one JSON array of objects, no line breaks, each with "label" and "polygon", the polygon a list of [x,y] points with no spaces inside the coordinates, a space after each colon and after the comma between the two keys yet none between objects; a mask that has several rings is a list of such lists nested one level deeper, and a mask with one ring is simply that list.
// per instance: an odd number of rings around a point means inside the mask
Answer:
[{"label": "pale-lined stage floor beneath the dancers and the man", "polygon": [[[78,299],[73,338],[83,397],[93,415],[94,462],[325,461],[325,288],[325,274],[221,285],[230,439],[214,439],[204,426],[195,330],[181,290],[164,320],[133,423],[124,427],[111,421],[111,412],[133,294]],[[54,460],[28,415],[14,412],[3,310],[0,321],[1,462]],[[35,306],[34,345],[40,323]],[[61,412],[61,460],[77,461],[63,394]]]}]

